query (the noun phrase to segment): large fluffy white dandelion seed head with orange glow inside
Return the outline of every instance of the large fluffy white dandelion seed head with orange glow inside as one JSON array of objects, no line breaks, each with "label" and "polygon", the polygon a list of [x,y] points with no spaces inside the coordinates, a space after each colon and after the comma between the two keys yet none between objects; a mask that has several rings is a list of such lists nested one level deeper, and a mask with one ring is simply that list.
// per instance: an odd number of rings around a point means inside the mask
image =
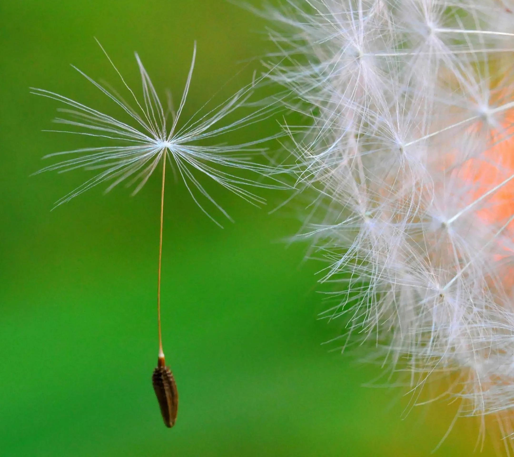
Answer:
[{"label": "large fluffy white dandelion seed head with orange glow inside", "polygon": [[[345,344],[514,432],[514,3],[288,0],[271,78]],[[334,284],[332,284],[334,285]],[[437,375],[436,375],[437,373]],[[510,444],[509,444],[510,443]],[[503,441],[509,452],[511,440]]]}]

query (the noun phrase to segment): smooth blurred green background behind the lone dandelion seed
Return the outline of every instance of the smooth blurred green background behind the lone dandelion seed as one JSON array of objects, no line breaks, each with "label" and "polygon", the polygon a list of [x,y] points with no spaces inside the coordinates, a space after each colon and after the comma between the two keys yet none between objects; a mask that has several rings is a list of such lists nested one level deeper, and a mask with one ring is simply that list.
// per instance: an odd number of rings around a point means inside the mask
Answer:
[{"label": "smooth blurred green background behind the lone dandelion seed", "polygon": [[[175,98],[197,40],[186,118],[251,80],[252,59],[273,50],[270,24],[222,0],[2,0],[0,21],[0,455],[429,455],[454,409],[402,420],[405,390],[362,387],[380,368],[321,345],[342,324],[317,320],[320,265],[284,242],[296,212],[269,215],[217,189],[236,221],[222,230],[180,185],[167,189],[164,221],[163,338],[180,394],[166,429],[151,385],[159,176],[134,198],[95,188],[52,212],[84,173],[29,177],[43,155],[93,144],[41,132],[58,104],[29,86],[112,109],[68,65],[118,84],[94,36],[134,86],[137,50]],[[276,129],[271,119],[234,141]],[[262,194],[268,208],[287,196]],[[474,420],[457,422],[436,455],[469,455],[477,436]]]}]

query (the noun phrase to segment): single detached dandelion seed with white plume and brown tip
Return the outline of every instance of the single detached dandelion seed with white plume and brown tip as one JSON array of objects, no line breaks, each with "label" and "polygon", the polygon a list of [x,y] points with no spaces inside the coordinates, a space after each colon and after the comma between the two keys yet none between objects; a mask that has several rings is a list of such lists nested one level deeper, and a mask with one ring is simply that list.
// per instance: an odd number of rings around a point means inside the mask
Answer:
[{"label": "single detached dandelion seed with white plume and brown tip", "polygon": [[[97,41],[98,42],[98,41]],[[100,43],[98,43],[100,45]],[[232,133],[241,127],[266,119],[276,110],[276,101],[261,103],[258,108],[225,126],[220,125],[221,121],[236,109],[250,105],[249,97],[258,81],[253,81],[237,92],[233,97],[224,103],[210,109],[206,114],[197,112],[186,123],[179,127],[180,115],[186,103],[189,92],[193,68],[196,57],[196,43],[193,49],[193,58],[186,81],[186,86],[180,100],[177,111],[174,110],[171,95],[168,99],[168,109],[165,113],[162,103],[157,96],[155,88],[143,67],[141,60],[136,53],[136,61],[141,75],[143,102],[139,102],[133,90],[128,86],[113,61],[100,45],[105,56],[115,69],[121,79],[124,88],[128,91],[130,99],[135,105],[131,105],[114,89],[101,85],[91,79],[83,71],[74,67],[89,82],[93,83],[108,98],[116,103],[128,116],[136,127],[127,124],[112,116],[104,114],[96,109],[90,108],[75,100],[69,99],[48,90],[31,88],[32,93],[43,97],[51,98],[68,105],[69,108],[61,108],[59,111],[67,115],[67,118],[57,118],[54,122],[59,124],[77,127],[77,130],[51,130],[50,132],[72,133],[97,138],[106,138],[120,142],[117,146],[104,146],[97,148],[82,148],[73,151],[65,151],[49,154],[45,157],[61,155],[72,155],[74,157],[63,160],[43,168],[37,173],[44,171],[58,171],[59,173],[75,170],[102,170],[98,175],[85,181],[81,186],[69,192],[56,203],[59,206],[68,202],[71,198],[97,186],[103,182],[109,182],[106,191],[113,189],[121,182],[126,186],[135,185],[133,194],[136,194],[148,181],[150,176],[162,163],[162,187],[160,198],[160,226],[159,226],[159,262],[157,281],[157,322],[159,354],[157,368],[154,370],[152,382],[159,401],[164,423],[173,427],[176,420],[178,408],[178,393],[173,374],[169,367],[166,367],[164,353],[162,350],[161,321],[160,321],[160,286],[161,286],[161,259],[162,259],[162,225],[164,211],[164,184],[166,178],[166,158],[173,173],[178,174],[185,182],[188,192],[200,209],[211,218],[217,225],[221,226],[213,216],[199,203],[199,195],[213,205],[219,212],[230,220],[228,213],[219,206],[209,193],[200,184],[195,173],[207,175],[218,184],[231,192],[244,198],[250,203],[264,203],[259,196],[251,193],[245,187],[256,186],[265,188],[283,188],[282,184],[273,174],[276,169],[253,163],[250,161],[252,154],[259,154],[265,151],[259,145],[276,136],[260,138],[235,145],[205,145],[199,144],[204,140],[212,140],[221,135]],[[167,124],[168,114],[172,116],[171,126]],[[271,184],[265,184],[262,180],[256,181],[250,178],[237,177],[231,170],[245,170],[260,177],[266,177]],[[194,190],[199,195],[195,195]]]}]

